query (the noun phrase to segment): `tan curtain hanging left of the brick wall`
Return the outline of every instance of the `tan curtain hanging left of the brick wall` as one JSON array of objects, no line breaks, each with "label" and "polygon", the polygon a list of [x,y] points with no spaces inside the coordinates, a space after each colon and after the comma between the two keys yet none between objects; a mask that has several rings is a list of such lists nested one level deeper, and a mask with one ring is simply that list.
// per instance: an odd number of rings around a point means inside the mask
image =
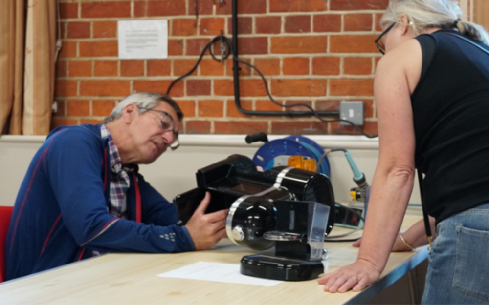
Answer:
[{"label": "tan curtain hanging left of the brick wall", "polygon": [[0,0],[0,130],[49,133],[56,0]]}]

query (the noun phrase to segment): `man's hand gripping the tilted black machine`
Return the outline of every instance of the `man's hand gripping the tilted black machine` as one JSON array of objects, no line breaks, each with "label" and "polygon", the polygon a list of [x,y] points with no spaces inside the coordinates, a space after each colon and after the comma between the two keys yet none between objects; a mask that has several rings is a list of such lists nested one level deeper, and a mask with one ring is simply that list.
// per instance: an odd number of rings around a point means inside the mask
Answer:
[{"label": "man's hand gripping the tilted black machine", "polygon": [[229,210],[204,214],[210,202],[211,194],[206,192],[194,215],[185,225],[194,241],[196,250],[208,249],[226,236],[226,217]]}]

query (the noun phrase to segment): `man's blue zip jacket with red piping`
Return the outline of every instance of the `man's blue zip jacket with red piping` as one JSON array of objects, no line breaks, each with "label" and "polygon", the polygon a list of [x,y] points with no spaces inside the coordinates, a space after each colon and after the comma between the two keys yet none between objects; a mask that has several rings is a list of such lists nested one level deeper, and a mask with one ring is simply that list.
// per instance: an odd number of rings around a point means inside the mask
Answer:
[{"label": "man's blue zip jacket with red piping", "polygon": [[[108,212],[111,169],[100,125],[53,130],[27,169],[5,245],[11,280],[108,252],[194,250],[177,207],[144,178],[130,175],[128,219]],[[123,267],[123,266],[121,266]]]}]

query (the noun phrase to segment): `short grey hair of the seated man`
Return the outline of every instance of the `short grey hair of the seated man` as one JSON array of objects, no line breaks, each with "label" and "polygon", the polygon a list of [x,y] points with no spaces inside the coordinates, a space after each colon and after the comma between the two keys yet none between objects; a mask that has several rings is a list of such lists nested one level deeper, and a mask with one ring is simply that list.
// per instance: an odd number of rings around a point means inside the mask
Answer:
[{"label": "short grey hair of the seated man", "polygon": [[[122,116],[124,107],[126,107],[129,104],[135,104],[138,107],[152,109],[156,107],[160,102],[166,102],[167,104],[172,106],[172,108],[177,113],[178,121],[181,122],[181,120],[183,119],[183,112],[181,111],[177,102],[175,102],[172,98],[170,98],[167,95],[156,93],[156,92],[145,91],[145,92],[133,93],[125,97],[114,107],[114,109],[112,109],[111,115],[105,118],[104,121],[102,121],[102,124],[107,124],[108,122],[112,122],[120,118]],[[144,113],[146,111],[147,109],[139,109],[140,113]]]}]

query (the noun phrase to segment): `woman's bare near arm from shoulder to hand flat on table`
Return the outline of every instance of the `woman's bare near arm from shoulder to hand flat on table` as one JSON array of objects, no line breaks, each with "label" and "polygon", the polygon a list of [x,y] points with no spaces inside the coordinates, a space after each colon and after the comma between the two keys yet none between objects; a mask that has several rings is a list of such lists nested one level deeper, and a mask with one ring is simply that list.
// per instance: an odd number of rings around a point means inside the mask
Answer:
[{"label": "woman's bare near arm from shoulder to hand flat on table", "polygon": [[363,241],[354,264],[318,280],[325,291],[362,290],[378,281],[385,267],[413,188],[416,142],[410,97],[421,67],[422,51],[416,40],[402,43],[378,63],[374,92],[379,161]]}]

